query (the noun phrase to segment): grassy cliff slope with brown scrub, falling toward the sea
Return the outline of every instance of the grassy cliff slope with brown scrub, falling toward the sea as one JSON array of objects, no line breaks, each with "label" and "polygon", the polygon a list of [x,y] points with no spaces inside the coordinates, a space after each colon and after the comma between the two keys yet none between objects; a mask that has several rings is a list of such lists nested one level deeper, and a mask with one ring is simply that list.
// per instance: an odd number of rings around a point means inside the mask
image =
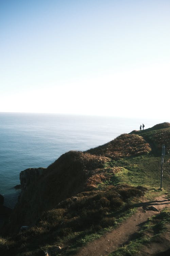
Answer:
[{"label": "grassy cliff slope with brown scrub, falling toward the sea", "polygon": [[[63,154],[23,189],[0,239],[3,255],[74,255],[133,213],[132,202],[169,193],[170,124]],[[28,226],[25,231],[21,226]]]}]

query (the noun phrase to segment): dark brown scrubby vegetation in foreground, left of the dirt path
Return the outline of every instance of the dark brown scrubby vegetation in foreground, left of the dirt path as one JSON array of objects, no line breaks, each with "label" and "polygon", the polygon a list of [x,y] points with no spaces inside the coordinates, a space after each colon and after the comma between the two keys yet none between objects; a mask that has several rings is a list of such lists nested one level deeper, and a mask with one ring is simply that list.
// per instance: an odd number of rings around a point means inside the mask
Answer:
[{"label": "dark brown scrubby vegetation in foreground, left of the dirt path", "polygon": [[64,243],[67,246],[61,255],[70,255],[130,216],[135,209],[130,209],[129,199],[143,195],[142,187],[139,189],[128,184],[82,192],[60,202],[55,209],[45,211],[36,225],[13,236],[12,244],[15,246],[8,246],[8,253],[4,245],[7,246],[10,240],[3,241],[0,250],[5,255],[13,252],[19,256],[24,255],[22,253],[27,248],[38,255],[40,250],[47,249],[47,244],[63,246]]}]

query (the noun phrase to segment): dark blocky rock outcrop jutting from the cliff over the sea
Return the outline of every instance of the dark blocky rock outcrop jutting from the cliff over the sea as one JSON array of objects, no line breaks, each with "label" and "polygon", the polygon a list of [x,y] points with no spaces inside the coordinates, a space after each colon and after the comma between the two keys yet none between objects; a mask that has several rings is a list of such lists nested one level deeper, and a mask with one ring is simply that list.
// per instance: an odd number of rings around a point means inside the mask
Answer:
[{"label": "dark blocky rock outcrop jutting from the cliff over the sea", "polygon": [[20,172],[19,179],[21,183],[21,189],[24,190],[30,183],[35,182],[44,172],[46,168],[29,168]]}]

